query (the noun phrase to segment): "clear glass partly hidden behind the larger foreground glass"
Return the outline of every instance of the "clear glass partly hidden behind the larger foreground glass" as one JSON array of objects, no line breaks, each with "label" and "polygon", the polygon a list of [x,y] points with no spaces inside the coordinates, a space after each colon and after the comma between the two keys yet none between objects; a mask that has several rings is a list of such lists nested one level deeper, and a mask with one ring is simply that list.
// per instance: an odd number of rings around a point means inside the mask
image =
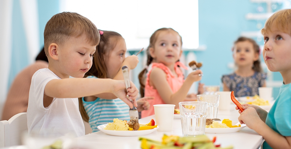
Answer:
[{"label": "clear glass partly hidden behind the larger foreground glass", "polygon": [[208,94],[197,95],[197,101],[203,101],[208,103],[207,119],[217,118],[219,95],[208,95]]}]

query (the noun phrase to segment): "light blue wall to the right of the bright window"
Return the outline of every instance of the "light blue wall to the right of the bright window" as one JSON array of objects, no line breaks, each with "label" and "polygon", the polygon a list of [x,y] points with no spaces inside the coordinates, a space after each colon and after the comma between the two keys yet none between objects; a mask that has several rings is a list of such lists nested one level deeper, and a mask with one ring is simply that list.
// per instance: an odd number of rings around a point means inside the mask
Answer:
[{"label": "light blue wall to the right of the bright window", "polygon": [[[205,85],[221,85],[221,76],[233,72],[227,67],[233,62],[231,48],[233,42],[240,36],[242,31],[259,31],[257,23],[263,26],[266,20],[247,20],[247,13],[258,13],[257,7],[264,8],[266,4],[251,3],[249,0],[199,0],[199,44],[206,45],[207,49],[195,52],[198,61],[203,62],[202,81]],[[276,4],[278,10],[281,5]],[[256,38],[254,39],[256,40]],[[264,45],[264,41],[258,42]],[[264,63],[261,55],[261,63]],[[274,73],[274,80],[282,80],[280,73]],[[222,90],[222,87],[221,87]],[[276,97],[278,89],[274,89]]]}]

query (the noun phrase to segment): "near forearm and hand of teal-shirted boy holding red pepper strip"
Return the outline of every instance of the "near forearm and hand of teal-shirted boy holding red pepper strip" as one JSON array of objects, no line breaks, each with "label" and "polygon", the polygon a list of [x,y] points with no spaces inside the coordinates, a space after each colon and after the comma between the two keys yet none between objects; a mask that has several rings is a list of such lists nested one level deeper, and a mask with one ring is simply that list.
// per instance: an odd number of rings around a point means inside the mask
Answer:
[{"label": "near forearm and hand of teal-shirted boy holding red pepper strip", "polygon": [[245,123],[249,128],[264,137],[265,141],[274,149],[291,148],[291,136],[282,136],[272,130],[258,116],[255,108],[249,107],[241,112],[238,117],[240,122]]}]

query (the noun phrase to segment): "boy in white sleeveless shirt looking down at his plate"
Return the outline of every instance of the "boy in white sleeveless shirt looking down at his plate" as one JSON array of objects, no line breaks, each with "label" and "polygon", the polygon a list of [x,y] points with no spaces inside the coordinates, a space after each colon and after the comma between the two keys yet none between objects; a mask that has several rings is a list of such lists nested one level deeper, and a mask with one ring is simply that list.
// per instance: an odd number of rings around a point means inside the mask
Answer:
[{"label": "boy in white sleeveless shirt looking down at his plate", "polygon": [[47,22],[44,49],[49,66],[39,69],[31,80],[27,108],[29,133],[84,135],[78,97],[114,94],[132,107],[126,98],[128,94],[137,106],[138,89],[132,82],[126,92],[123,80],[82,78],[92,66],[92,55],[99,41],[96,26],[78,13],[58,13]]}]

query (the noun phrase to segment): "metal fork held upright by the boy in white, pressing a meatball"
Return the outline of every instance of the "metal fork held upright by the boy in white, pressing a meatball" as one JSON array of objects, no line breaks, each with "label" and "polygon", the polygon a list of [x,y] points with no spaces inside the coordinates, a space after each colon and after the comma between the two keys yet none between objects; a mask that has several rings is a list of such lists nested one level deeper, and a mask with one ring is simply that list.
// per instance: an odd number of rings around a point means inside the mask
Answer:
[{"label": "metal fork held upright by the boy in white, pressing a meatball", "polygon": [[[122,74],[123,74],[124,83],[125,83],[125,87],[127,91],[127,89],[131,88],[130,79],[129,79],[129,71],[128,71],[127,66],[122,67]],[[126,97],[128,100],[130,100],[128,95],[126,95]],[[133,104],[133,100],[130,100],[130,101]],[[130,119],[132,120],[138,119],[138,111],[137,111],[137,108],[134,106],[134,104],[133,104],[133,108],[129,109],[129,116],[130,116]]]}]

